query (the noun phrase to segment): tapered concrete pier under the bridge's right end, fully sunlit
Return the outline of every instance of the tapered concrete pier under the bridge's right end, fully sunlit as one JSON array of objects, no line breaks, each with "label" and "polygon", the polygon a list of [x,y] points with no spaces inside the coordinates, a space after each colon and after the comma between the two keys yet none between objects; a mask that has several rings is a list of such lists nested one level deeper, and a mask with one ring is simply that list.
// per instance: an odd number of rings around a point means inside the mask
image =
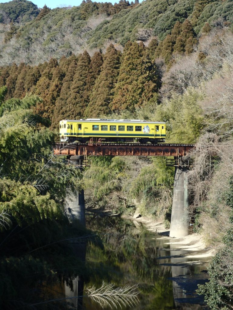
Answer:
[{"label": "tapered concrete pier under the bridge's right end, fully sunlit", "polygon": [[178,166],[175,170],[173,201],[171,211],[170,237],[184,237],[188,235],[188,179],[185,166]]}]

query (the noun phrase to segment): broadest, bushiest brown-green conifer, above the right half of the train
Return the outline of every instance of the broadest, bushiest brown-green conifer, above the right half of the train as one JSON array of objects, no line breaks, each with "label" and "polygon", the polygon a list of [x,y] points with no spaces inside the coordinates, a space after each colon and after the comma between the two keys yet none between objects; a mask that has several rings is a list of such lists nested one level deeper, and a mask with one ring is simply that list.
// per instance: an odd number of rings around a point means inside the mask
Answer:
[{"label": "broadest, bushiest brown-green conifer, above the right half of the train", "polygon": [[120,66],[112,110],[127,109],[146,104],[157,91],[158,77],[143,43],[128,42],[125,46]]}]

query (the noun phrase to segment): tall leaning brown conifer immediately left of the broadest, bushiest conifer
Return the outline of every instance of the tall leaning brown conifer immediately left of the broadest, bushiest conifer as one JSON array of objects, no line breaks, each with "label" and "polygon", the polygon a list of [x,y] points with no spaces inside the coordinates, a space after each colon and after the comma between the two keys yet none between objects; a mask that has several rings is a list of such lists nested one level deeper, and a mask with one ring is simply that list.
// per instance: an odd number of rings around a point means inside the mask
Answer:
[{"label": "tall leaning brown conifer immediately left of the broadest, bushiest conifer", "polygon": [[85,116],[99,117],[110,112],[109,104],[113,98],[113,87],[117,82],[119,68],[120,53],[110,44],[103,56],[103,66],[95,81]]}]

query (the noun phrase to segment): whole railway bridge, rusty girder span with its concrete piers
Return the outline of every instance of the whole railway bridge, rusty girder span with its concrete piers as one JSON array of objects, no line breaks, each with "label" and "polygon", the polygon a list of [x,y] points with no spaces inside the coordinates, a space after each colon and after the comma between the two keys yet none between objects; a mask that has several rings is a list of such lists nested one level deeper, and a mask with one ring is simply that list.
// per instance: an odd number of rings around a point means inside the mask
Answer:
[{"label": "whole railway bridge, rusty girder span with its concrete piers", "polygon": [[[88,165],[87,156],[166,156],[167,166],[175,167],[175,179],[171,212],[170,237],[188,235],[188,181],[187,170],[190,163],[186,160],[187,153],[194,144],[139,144],[139,143],[56,143],[53,148],[55,155],[65,155],[78,166]],[[85,216],[84,193],[77,193],[67,201],[71,216],[82,219]],[[70,207],[72,206],[72,208]],[[79,208],[77,208],[79,206]]]}]

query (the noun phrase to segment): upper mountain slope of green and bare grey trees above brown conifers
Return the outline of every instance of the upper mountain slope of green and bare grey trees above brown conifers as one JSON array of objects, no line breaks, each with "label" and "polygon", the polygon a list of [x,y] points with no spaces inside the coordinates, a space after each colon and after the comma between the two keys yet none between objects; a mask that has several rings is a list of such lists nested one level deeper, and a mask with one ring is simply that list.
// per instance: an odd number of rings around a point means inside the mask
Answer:
[{"label": "upper mountain slope of green and bare grey trees above brown conifers", "polygon": [[[15,23],[10,30],[2,27],[0,65],[39,64],[51,57],[77,55],[85,49],[92,55],[96,49],[105,51],[110,43],[122,50],[128,40],[147,41],[151,36],[164,40],[177,21],[183,23],[187,18],[197,35],[206,22],[215,26],[233,21],[231,0],[146,0],[139,4],[121,0],[115,5],[88,0],[79,7],[47,10],[41,18],[35,18],[38,11],[30,10],[22,19],[30,15],[32,20],[24,25]],[[17,21],[17,16],[12,20]]]}]

